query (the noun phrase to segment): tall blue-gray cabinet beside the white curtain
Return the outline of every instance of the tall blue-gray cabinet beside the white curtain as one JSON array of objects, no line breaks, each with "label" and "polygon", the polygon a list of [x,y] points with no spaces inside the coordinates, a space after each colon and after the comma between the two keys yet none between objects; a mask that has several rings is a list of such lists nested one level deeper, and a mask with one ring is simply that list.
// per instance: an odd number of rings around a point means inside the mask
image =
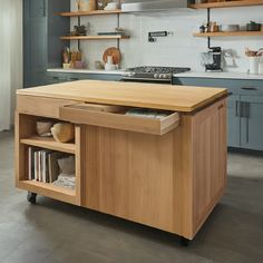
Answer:
[{"label": "tall blue-gray cabinet beside the white curtain", "polygon": [[23,87],[48,84],[47,68],[60,67],[69,20],[57,16],[70,10],[69,0],[23,0]]}]

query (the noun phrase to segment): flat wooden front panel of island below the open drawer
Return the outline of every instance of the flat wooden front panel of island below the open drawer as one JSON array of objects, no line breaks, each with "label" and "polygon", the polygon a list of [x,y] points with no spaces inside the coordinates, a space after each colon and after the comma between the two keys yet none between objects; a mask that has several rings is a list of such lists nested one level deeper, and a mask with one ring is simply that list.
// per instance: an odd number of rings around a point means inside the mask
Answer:
[{"label": "flat wooden front panel of island below the open drawer", "polygon": [[86,206],[173,232],[173,133],[87,127]]}]

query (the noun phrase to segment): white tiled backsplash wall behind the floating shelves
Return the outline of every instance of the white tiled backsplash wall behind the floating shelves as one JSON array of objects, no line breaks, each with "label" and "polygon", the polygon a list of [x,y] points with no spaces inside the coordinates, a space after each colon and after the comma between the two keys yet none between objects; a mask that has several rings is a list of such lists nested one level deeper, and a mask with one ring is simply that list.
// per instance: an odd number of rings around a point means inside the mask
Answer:
[{"label": "white tiled backsplash wall behind the floating shelves", "polygon": [[[72,2],[75,2],[72,0]],[[72,10],[75,4],[72,4]],[[214,9],[211,18],[218,23],[245,25],[250,20],[263,23],[263,7]],[[92,33],[110,31],[117,25],[116,16],[97,16],[81,18],[81,23],[89,21],[92,25]],[[130,31],[129,40],[120,41],[123,52],[123,67],[160,65],[160,66],[186,66],[193,70],[202,71],[199,52],[206,51],[207,40],[194,38],[193,32],[198,31],[206,21],[206,10],[191,10],[188,12],[166,12],[158,14],[121,14],[120,25]],[[77,20],[71,20],[71,26]],[[148,31],[167,30],[174,36],[160,38],[156,43],[147,41]],[[74,45],[72,45],[74,46]],[[81,49],[94,68],[95,60],[101,60],[106,48],[115,46],[116,41],[82,41]],[[247,59],[244,56],[245,47],[259,49],[263,47],[263,37],[230,37],[212,40],[212,46],[221,46],[234,53],[234,59],[227,59],[227,71],[247,71]],[[75,46],[76,47],[76,46]]]}]

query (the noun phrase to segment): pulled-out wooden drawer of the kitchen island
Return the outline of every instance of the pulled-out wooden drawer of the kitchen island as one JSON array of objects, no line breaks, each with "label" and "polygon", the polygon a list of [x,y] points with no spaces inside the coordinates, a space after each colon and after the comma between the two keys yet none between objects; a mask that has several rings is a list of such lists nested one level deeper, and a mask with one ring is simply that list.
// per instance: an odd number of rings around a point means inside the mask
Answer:
[{"label": "pulled-out wooden drawer of the kitchen island", "polygon": [[125,115],[128,108],[90,104],[60,107],[59,118],[77,124],[86,124],[144,134],[164,135],[179,125],[177,113],[167,113],[167,117],[148,118]]}]

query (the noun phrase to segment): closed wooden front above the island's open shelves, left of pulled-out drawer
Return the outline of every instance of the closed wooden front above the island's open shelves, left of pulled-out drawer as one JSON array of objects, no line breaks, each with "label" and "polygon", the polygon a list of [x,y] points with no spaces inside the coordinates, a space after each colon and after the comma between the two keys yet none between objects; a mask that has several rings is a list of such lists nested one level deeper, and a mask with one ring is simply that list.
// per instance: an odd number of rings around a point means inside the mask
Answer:
[{"label": "closed wooden front above the island's open shelves, left of pulled-out drawer", "polygon": [[17,110],[19,113],[48,118],[59,118],[59,107],[69,104],[74,104],[74,101],[23,95],[17,96]]}]

